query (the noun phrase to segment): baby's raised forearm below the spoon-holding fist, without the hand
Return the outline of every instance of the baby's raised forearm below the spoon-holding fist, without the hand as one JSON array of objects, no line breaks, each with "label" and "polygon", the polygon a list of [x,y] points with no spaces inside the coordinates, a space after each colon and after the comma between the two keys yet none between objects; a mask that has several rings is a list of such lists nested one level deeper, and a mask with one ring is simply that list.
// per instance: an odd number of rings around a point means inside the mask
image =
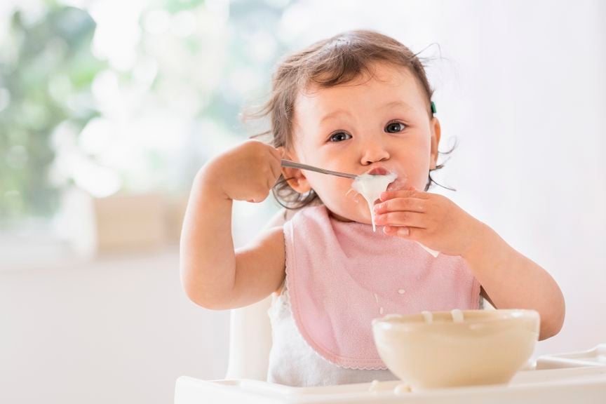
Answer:
[{"label": "baby's raised forearm below the spoon-holding fist, without the hand", "polygon": [[208,309],[220,304],[234,285],[232,204],[206,170],[196,175],[181,232],[181,280],[189,298]]}]

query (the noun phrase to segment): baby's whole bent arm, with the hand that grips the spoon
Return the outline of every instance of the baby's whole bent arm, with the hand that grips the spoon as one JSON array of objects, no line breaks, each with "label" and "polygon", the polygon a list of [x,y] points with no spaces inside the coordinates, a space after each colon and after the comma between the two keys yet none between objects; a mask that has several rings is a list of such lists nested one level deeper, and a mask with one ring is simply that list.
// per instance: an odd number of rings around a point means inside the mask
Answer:
[{"label": "baby's whole bent arm, with the hand that grips the spoon", "polygon": [[281,155],[245,142],[204,166],[194,180],[181,234],[181,278],[189,298],[208,309],[242,307],[277,290],[284,277],[281,227],[234,250],[234,200],[260,202],[280,175]]}]

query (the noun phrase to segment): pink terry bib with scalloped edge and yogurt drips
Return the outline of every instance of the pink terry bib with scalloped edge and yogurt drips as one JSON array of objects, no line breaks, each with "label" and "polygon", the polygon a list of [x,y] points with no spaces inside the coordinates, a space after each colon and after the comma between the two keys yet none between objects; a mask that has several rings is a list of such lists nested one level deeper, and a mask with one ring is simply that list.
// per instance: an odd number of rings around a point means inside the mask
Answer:
[{"label": "pink terry bib with scalloped edge and yogurt drips", "polygon": [[434,258],[414,241],[339,222],[325,206],[284,225],[292,316],[307,343],[343,368],[386,369],[373,318],[423,310],[478,309],[480,284],[462,257]]}]

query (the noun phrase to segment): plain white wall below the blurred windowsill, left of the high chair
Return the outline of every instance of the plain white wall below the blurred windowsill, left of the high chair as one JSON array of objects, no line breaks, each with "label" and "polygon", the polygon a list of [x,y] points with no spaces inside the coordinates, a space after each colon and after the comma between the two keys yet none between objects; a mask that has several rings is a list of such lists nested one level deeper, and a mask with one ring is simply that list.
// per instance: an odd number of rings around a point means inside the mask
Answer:
[{"label": "plain white wall below the blurred windowsill, left of the high chair", "polygon": [[187,300],[176,248],[0,265],[0,402],[173,402],[181,375],[221,379],[229,312]]}]

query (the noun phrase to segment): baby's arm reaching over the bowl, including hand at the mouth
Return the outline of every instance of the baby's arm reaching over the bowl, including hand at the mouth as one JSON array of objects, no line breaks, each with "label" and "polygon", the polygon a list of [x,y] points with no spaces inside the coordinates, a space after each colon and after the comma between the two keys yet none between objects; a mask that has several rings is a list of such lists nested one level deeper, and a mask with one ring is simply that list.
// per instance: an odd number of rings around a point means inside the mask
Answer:
[{"label": "baby's arm reaching over the bowl, including hand at the mouth", "polygon": [[462,256],[497,309],[534,309],[541,315],[539,339],[557,334],[564,297],[545,269],[445,196],[405,189],[384,192],[375,222],[386,234],[419,241],[447,255]]}]

